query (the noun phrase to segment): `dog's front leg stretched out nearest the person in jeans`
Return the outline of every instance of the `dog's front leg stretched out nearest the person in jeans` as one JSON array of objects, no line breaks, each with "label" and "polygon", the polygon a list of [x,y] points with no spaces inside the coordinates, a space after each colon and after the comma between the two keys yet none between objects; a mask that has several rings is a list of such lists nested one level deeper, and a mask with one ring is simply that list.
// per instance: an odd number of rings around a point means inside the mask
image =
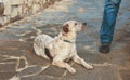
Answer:
[{"label": "dog's front leg stretched out nearest the person in jeans", "polygon": [[92,66],[92,65],[87,64],[87,63],[84,62],[84,59],[82,59],[82,58],[79,57],[78,55],[75,55],[75,56],[73,57],[73,59],[74,59],[74,62],[83,65],[87,69],[93,69],[93,66]]}]

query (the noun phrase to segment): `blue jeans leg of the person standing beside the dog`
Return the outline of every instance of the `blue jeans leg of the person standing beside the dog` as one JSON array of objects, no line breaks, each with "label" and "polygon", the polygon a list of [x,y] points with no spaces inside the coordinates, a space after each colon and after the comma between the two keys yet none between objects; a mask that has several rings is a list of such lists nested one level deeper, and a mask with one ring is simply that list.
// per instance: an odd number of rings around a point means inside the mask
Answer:
[{"label": "blue jeans leg of the person standing beside the dog", "polygon": [[112,43],[116,17],[121,0],[105,0],[103,22],[100,30],[101,43]]}]

